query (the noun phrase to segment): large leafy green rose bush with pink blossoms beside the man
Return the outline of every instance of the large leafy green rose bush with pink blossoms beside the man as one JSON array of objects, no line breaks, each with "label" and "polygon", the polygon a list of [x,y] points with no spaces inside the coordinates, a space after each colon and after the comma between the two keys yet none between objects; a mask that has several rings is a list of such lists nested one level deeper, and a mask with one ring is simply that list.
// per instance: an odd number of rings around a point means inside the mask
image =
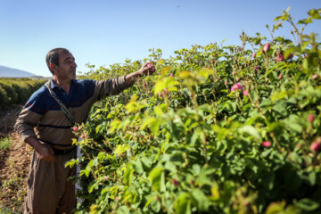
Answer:
[{"label": "large leafy green rose bush with pink blossoms beside the man", "polygon": [[[288,11],[276,21],[296,28]],[[320,212],[320,44],[296,32],[264,49],[267,38],[243,34],[253,50],[193,45],[169,59],[152,50],[144,62],[157,74],[96,103],[78,127],[78,213]],[[141,65],[92,66],[87,77]]]}]

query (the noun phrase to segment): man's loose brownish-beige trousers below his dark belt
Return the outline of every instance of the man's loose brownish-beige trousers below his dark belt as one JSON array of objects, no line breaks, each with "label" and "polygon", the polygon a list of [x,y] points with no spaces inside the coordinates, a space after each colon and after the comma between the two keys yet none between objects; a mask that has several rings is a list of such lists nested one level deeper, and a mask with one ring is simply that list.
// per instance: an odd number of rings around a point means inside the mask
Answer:
[{"label": "man's loose brownish-beige trousers below his dark belt", "polygon": [[65,168],[65,163],[76,158],[76,150],[55,155],[57,161],[41,161],[33,153],[27,185],[24,214],[71,213],[76,207],[75,185],[70,176],[76,168]]}]

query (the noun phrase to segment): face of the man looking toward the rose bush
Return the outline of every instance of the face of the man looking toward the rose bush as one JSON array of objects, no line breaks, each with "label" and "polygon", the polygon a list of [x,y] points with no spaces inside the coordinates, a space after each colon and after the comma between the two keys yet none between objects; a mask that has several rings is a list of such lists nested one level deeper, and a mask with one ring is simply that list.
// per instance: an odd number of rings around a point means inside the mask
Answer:
[{"label": "face of the man looking toward the rose bush", "polygon": [[53,65],[53,76],[61,80],[71,80],[76,78],[77,64],[75,58],[69,52],[62,51],[59,54],[59,66]]}]

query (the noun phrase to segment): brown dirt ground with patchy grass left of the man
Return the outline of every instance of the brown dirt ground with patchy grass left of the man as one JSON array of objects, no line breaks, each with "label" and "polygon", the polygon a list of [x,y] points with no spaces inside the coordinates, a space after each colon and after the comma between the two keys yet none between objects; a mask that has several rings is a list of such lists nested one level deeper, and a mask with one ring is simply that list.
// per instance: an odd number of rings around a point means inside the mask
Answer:
[{"label": "brown dirt ground with patchy grass left of the man", "polygon": [[21,213],[26,194],[32,149],[13,131],[21,108],[14,105],[0,111],[0,139],[12,140],[9,150],[0,150],[0,214]]}]

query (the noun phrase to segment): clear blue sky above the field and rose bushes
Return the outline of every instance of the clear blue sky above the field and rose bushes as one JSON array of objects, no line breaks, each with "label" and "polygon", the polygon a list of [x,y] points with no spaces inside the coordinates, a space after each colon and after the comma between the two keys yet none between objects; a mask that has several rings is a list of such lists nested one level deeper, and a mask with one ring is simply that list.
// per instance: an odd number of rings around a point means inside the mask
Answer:
[{"label": "clear blue sky above the field and rose bushes", "polygon": [[[79,71],[86,63],[109,66],[143,60],[150,48],[163,57],[191,45],[241,45],[244,30],[269,37],[266,24],[291,7],[294,21],[307,18],[320,0],[1,0],[0,65],[50,77],[45,54],[66,47]],[[291,38],[290,25],[280,34]],[[306,32],[321,37],[321,21]]]}]

